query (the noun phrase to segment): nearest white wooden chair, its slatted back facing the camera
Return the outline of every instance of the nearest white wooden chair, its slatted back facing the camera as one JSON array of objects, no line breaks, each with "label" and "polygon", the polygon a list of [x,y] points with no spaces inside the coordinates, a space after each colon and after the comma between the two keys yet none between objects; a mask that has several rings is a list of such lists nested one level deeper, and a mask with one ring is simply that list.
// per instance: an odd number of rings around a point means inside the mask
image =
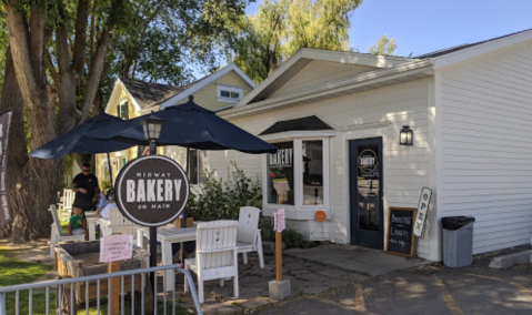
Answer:
[{"label": "nearest white wooden chair, its slatted back facing the camera", "polygon": [[[237,221],[221,220],[198,224],[195,257],[184,260],[184,268],[198,275],[198,295],[204,302],[203,282],[233,277],[233,294],[239,296],[239,264],[237,257]],[[189,282],[184,277],[184,292]]]}]

